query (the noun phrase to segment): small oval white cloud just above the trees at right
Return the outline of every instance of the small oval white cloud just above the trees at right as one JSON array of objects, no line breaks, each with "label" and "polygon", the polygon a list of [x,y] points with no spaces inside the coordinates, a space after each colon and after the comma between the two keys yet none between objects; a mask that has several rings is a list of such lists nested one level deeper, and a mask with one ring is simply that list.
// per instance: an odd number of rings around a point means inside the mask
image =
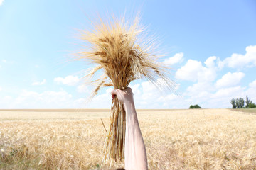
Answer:
[{"label": "small oval white cloud just above the trees at right", "polygon": [[221,79],[216,81],[215,85],[218,88],[236,86],[243,77],[245,77],[245,74],[242,72],[228,72],[227,74],[223,75]]}]

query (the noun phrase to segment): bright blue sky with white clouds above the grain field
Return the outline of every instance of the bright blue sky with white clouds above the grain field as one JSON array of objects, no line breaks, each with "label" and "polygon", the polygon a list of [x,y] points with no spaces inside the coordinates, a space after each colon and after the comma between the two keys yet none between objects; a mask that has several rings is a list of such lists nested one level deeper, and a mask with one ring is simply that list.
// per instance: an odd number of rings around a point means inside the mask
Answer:
[{"label": "bright blue sky with white clouds above the grain field", "polygon": [[110,108],[111,89],[87,103],[80,71],[88,64],[67,60],[80,50],[77,29],[90,28],[88,18],[124,11],[140,11],[159,35],[180,95],[134,81],[137,108],[228,108],[246,95],[256,102],[254,0],[0,0],[0,108]]}]

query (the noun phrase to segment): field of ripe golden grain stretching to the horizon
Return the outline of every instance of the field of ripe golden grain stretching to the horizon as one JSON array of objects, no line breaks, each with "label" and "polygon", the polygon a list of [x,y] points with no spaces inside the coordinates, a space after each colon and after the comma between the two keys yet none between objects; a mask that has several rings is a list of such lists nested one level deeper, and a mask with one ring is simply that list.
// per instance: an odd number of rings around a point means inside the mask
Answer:
[{"label": "field of ripe golden grain stretching to the horizon", "polygon": [[[256,169],[256,115],[228,109],[137,111],[149,169]],[[112,169],[107,110],[0,111],[0,169]]]}]

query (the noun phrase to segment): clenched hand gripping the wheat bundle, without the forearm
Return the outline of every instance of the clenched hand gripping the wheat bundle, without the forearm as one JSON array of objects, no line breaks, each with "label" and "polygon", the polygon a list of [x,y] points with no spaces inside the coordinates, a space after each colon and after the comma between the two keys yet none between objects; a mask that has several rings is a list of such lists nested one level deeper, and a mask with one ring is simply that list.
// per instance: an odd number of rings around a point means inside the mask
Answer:
[{"label": "clenched hand gripping the wheat bundle, without the forearm", "polygon": [[121,101],[123,104],[127,101],[133,102],[133,93],[132,89],[127,87],[127,89],[120,90],[120,89],[114,89],[111,92],[112,98],[114,99],[115,96],[117,96],[118,100]]}]

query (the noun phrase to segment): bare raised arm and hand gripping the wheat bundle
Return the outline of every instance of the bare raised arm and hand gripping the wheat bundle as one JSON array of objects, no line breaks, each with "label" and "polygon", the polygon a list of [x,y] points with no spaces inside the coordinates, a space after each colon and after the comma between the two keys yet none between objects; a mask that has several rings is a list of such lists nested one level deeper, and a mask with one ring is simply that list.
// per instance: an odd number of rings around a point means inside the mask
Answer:
[{"label": "bare raised arm and hand gripping the wheat bundle", "polygon": [[117,96],[118,100],[124,104],[124,110],[126,111],[126,131],[124,146],[125,169],[148,169],[146,148],[144,145],[142,132],[139,128],[132,89],[127,88],[123,91],[116,89],[113,90],[111,94],[112,98]]}]

